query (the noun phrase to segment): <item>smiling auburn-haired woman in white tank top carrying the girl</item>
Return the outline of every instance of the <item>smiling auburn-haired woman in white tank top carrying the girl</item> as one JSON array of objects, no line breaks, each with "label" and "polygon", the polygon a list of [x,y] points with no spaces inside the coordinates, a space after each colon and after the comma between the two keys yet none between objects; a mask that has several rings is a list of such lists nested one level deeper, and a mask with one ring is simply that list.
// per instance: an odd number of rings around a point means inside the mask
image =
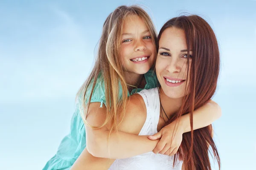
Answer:
[{"label": "smiling auburn-haired woman in white tank top carrying the girl", "polygon": [[[193,110],[209,103],[215,93],[220,64],[218,43],[212,28],[204,19],[196,15],[173,18],[161,28],[158,40],[156,72],[160,87],[143,90],[130,97],[125,119],[119,126],[123,132],[148,136],[170,122],[189,116],[189,111],[191,129],[194,129],[193,124],[197,122],[195,119],[193,123]],[[138,107],[137,103],[142,103],[142,107]],[[137,119],[134,119],[135,116]],[[179,134],[179,127],[173,132]],[[150,140],[144,144],[149,150],[155,146]],[[186,170],[211,170],[209,146],[220,168],[210,125],[183,133],[176,159],[175,156],[148,152],[116,159],[109,170],[180,170],[182,164]],[[134,145],[134,149],[141,150],[137,145]],[[113,148],[110,152],[113,153]],[[120,153],[120,158],[121,154],[127,153]],[[106,157],[111,158],[111,155]],[[88,163],[84,164],[84,161]],[[72,170],[107,170],[112,162],[113,159],[94,158],[84,150]]]}]

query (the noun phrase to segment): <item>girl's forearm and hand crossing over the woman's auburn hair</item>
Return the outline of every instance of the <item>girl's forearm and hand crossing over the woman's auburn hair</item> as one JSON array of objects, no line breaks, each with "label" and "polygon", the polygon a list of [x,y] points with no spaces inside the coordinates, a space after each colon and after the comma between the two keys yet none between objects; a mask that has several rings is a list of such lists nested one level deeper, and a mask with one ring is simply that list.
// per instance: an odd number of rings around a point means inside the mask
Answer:
[{"label": "girl's forearm and hand crossing over the woman's auburn hair", "polygon": [[[220,116],[220,106],[211,100],[194,111],[193,129],[196,130],[202,127],[207,127],[220,118]],[[189,117],[190,113],[183,115],[180,117],[180,122],[176,127],[175,124],[178,120],[166,125],[153,136],[148,136],[148,139],[151,140],[160,139],[160,142],[158,142],[157,147],[154,148],[153,152],[170,156],[174,155],[182,142],[182,134],[191,131]],[[172,136],[174,129],[177,129],[177,131],[175,136]]]}]

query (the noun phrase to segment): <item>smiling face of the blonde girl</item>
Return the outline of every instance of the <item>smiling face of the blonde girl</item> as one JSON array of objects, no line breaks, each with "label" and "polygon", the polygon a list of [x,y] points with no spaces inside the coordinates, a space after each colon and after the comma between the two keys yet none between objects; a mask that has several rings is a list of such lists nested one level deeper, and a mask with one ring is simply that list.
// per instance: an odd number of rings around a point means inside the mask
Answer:
[{"label": "smiling face of the blonde girl", "polygon": [[124,70],[136,74],[148,72],[154,63],[155,46],[140,17],[131,15],[125,19],[121,41]]}]

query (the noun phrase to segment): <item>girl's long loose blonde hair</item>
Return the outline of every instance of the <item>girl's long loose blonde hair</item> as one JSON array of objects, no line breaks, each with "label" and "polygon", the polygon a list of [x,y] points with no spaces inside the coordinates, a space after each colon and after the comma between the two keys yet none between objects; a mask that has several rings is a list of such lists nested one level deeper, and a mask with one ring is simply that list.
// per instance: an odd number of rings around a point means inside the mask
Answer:
[{"label": "girl's long loose blonde hair", "polygon": [[[90,73],[90,76],[87,78],[77,93],[77,97],[80,97],[81,102],[79,105],[82,119],[87,126],[93,129],[101,128],[111,122],[111,131],[115,130],[118,128],[125,116],[126,103],[128,100],[128,87],[124,79],[122,61],[117,58],[121,54],[120,46],[124,19],[131,15],[137,15],[144,21],[145,26],[148,28],[151,34],[153,44],[156,46],[157,35],[154,24],[148,14],[143,10],[143,8],[135,5],[119,6],[111,14],[109,14],[103,25],[96,63],[92,72]],[[154,52],[156,56],[156,48]],[[86,118],[88,115],[90,100],[96,85],[97,78],[102,78],[99,77],[100,74],[102,74],[105,84],[105,101],[107,113],[105,122],[102,125],[96,127],[89,125],[86,121]],[[92,88],[90,88],[91,85]],[[122,94],[119,94],[119,85],[121,85]],[[90,88],[91,91],[87,92],[88,88]],[[90,96],[89,99],[86,99],[87,96]],[[119,96],[122,96],[121,99]]]}]

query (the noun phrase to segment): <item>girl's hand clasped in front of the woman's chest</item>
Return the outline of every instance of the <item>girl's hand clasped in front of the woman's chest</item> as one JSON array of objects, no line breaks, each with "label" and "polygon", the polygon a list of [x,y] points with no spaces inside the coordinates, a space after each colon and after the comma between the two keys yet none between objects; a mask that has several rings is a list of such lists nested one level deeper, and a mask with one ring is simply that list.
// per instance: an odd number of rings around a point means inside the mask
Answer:
[{"label": "girl's hand clasped in front of the woman's chest", "polygon": [[[163,127],[158,133],[148,136],[150,140],[160,139],[157,146],[154,148],[154,153],[173,156],[177,153],[182,142],[183,129],[178,124],[175,127],[176,121]],[[175,129],[175,130],[174,130]]]}]

